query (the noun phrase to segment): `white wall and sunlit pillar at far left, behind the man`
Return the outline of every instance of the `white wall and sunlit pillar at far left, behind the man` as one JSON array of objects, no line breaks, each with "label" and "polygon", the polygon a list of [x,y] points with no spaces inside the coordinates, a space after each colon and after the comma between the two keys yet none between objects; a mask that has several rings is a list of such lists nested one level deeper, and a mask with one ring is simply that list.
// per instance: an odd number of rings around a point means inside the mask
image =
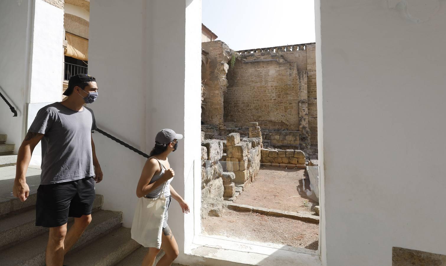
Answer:
[{"label": "white wall and sunlit pillar at far left, behind the man", "polygon": [[[33,104],[61,100],[63,10],[42,0],[0,3],[0,86],[21,114],[0,103],[0,131],[18,148],[37,114]],[[30,110],[31,112],[28,112]],[[40,145],[31,164],[41,161]]]}]

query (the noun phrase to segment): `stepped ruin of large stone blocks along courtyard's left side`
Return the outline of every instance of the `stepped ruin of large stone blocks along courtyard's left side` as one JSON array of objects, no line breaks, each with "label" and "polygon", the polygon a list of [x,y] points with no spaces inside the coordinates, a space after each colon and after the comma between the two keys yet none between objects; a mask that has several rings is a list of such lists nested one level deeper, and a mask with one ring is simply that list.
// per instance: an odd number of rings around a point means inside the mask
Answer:
[{"label": "stepped ruin of large stone blocks along courtyard's left side", "polygon": [[262,137],[257,123],[249,138],[231,133],[226,141],[204,140],[202,133],[202,217],[221,216],[225,201],[234,201],[260,170]]}]

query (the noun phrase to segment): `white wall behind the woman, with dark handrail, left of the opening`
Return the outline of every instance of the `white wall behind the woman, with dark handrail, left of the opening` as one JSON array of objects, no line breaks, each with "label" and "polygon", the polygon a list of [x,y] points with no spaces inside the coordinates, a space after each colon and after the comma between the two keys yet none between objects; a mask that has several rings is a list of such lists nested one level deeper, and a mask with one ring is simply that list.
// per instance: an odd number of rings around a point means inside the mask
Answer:
[{"label": "white wall behind the woman, with dark handrail, left of the opening", "polygon": [[[190,2],[92,1],[89,74],[98,81],[99,98],[91,108],[99,128],[146,153],[159,130],[184,133],[169,161],[176,172],[173,187],[180,195],[186,191],[193,207],[194,180],[187,177],[200,159],[201,1]],[[104,172],[96,186],[103,208],[124,212],[123,224],[130,227],[145,158],[99,133],[94,140]],[[185,216],[175,202],[169,226],[181,260],[185,241],[192,241],[193,216]]]}]

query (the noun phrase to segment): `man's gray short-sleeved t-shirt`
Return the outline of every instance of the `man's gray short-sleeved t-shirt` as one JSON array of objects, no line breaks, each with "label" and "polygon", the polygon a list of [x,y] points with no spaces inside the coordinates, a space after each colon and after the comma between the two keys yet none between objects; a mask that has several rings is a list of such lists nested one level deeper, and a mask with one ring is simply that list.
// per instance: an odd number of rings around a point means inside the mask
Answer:
[{"label": "man's gray short-sleeved t-shirt", "polygon": [[45,134],[41,140],[41,185],[95,175],[91,149],[94,129],[95,115],[90,108],[76,112],[54,103],[37,112],[29,131]]}]

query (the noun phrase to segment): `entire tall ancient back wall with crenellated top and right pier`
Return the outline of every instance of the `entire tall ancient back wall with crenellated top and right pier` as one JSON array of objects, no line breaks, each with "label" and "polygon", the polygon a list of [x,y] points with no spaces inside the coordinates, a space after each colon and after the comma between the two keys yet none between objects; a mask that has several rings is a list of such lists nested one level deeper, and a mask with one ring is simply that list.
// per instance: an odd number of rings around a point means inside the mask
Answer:
[{"label": "entire tall ancient back wall with crenellated top and right pier", "polygon": [[238,52],[227,74],[225,125],[259,121],[264,132],[299,131],[301,149],[317,148],[315,44]]}]

